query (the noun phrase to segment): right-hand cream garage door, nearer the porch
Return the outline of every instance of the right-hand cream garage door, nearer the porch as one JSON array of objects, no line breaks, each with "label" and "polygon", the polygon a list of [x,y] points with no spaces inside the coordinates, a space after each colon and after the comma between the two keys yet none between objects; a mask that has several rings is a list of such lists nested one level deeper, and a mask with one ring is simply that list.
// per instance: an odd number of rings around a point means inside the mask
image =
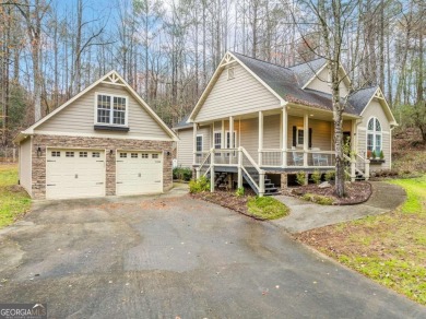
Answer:
[{"label": "right-hand cream garage door, nearer the porch", "polygon": [[117,194],[163,191],[163,158],[158,152],[117,152]]}]

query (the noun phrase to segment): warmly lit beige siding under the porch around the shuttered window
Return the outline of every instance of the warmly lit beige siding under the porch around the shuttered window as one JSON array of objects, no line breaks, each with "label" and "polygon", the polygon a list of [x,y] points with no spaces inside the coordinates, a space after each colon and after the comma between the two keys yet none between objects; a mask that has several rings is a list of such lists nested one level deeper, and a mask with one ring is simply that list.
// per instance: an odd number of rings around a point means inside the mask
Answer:
[{"label": "warmly lit beige siding under the porch around the shuttered window", "polygon": [[[293,145],[293,127],[303,128],[304,119],[301,117],[288,117],[287,128],[287,147]],[[322,151],[331,149],[331,132],[332,122],[309,118],[309,128],[312,129],[312,147],[318,147]],[[300,146],[299,146],[300,147]],[[300,147],[301,149],[301,147]]]}]

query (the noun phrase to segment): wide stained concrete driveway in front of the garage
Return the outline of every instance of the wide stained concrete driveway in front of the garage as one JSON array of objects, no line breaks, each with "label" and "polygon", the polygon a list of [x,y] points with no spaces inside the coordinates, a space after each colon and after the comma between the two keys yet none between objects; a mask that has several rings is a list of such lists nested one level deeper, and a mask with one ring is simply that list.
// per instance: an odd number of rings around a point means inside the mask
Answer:
[{"label": "wide stained concrete driveway in front of the garage", "polygon": [[50,318],[425,318],[283,228],[176,198],[40,202],[0,231],[0,303]]}]

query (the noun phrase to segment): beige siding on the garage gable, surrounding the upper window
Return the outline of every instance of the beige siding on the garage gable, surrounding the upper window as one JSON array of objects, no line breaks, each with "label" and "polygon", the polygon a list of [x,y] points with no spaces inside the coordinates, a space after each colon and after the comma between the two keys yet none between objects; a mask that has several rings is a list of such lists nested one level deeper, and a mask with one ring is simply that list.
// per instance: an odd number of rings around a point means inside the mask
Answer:
[{"label": "beige siding on the garage gable, surrounding the upper window", "polygon": [[[95,131],[95,93],[117,94],[128,98],[129,132]],[[74,101],[60,113],[42,123],[36,130],[60,133],[83,133],[96,137],[122,135],[135,138],[169,139],[164,129],[147,114],[147,111],[128,93],[125,87],[99,84]]]}]

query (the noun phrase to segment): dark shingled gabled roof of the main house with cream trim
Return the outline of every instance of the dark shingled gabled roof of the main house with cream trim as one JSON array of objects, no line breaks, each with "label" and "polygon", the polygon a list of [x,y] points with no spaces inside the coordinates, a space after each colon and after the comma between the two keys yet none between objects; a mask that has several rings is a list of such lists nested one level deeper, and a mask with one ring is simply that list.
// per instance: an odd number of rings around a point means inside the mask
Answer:
[{"label": "dark shingled gabled roof of the main house with cream trim", "polygon": [[[225,66],[233,62],[238,62],[241,67],[244,67],[268,91],[270,91],[281,101],[281,105],[285,105],[286,103],[295,103],[329,111],[333,110],[331,94],[312,88],[306,88],[306,86],[313,79],[316,79],[318,73],[327,67],[327,60],[324,58],[300,63],[291,68],[285,68],[259,59],[250,58],[241,54],[228,51],[222,59],[218,68],[214,72],[188,120],[186,122],[180,122],[175,128],[184,128],[189,122],[193,121],[198,111],[213,88],[214,83],[221,75],[222,70]],[[344,74],[346,76],[345,72]],[[350,79],[346,79],[345,81],[350,82]],[[391,119],[391,123],[397,123],[379,87],[367,87],[353,93],[348,97],[348,104],[346,105],[345,114],[360,117],[365,107],[374,97],[378,97],[380,99],[380,104],[382,105],[388,117]],[[343,99],[341,103],[343,103]]]}]

